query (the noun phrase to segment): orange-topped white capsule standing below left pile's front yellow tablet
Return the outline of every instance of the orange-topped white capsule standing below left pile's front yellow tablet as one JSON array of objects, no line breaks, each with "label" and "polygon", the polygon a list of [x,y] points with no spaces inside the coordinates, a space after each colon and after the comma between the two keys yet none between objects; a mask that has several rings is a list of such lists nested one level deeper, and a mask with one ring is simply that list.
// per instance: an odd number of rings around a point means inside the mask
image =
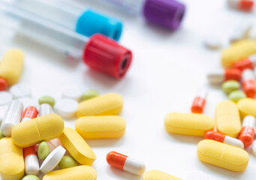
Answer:
[{"label": "orange-topped white capsule standing below left pile's front yellow tablet", "polygon": [[25,172],[27,175],[38,175],[39,162],[35,151],[35,145],[29,148],[23,148],[23,155],[25,159]]}]

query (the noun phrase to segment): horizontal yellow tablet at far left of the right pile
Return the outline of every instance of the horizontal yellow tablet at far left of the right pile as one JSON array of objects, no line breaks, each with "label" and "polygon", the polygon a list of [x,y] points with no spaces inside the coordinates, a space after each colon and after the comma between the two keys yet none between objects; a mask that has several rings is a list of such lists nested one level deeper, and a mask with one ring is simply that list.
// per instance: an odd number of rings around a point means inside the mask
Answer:
[{"label": "horizontal yellow tablet at far left of the right pile", "polygon": [[169,133],[191,136],[204,136],[207,130],[213,129],[214,124],[213,118],[197,113],[169,113],[164,119],[165,128]]}]

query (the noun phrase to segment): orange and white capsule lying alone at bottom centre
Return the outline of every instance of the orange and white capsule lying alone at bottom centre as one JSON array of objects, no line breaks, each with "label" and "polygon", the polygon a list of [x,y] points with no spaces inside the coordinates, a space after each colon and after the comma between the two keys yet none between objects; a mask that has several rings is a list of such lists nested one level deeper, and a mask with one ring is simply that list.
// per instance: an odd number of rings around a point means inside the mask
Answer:
[{"label": "orange and white capsule lying alone at bottom centre", "polygon": [[110,164],[110,166],[131,172],[135,175],[142,175],[146,169],[144,163],[116,151],[110,151],[110,153],[107,154],[107,163]]}]

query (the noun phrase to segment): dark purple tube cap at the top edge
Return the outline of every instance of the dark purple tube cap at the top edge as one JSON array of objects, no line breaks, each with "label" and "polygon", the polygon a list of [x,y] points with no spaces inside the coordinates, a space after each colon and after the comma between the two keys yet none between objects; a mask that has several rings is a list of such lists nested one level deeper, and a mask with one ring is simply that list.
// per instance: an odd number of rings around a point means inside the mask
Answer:
[{"label": "dark purple tube cap at the top edge", "polygon": [[185,5],[175,0],[146,0],[143,14],[150,23],[174,31],[185,14]]}]

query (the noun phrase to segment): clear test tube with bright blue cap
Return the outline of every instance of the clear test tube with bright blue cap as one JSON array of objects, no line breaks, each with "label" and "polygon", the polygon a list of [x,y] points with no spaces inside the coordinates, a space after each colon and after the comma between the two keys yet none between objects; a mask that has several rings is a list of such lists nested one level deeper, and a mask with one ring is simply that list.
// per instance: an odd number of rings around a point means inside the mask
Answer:
[{"label": "clear test tube with bright blue cap", "polygon": [[122,34],[122,23],[113,17],[107,17],[95,10],[79,9],[64,1],[50,0],[4,0],[9,5],[44,17],[53,23],[77,31],[85,36],[101,33],[114,40]]}]

